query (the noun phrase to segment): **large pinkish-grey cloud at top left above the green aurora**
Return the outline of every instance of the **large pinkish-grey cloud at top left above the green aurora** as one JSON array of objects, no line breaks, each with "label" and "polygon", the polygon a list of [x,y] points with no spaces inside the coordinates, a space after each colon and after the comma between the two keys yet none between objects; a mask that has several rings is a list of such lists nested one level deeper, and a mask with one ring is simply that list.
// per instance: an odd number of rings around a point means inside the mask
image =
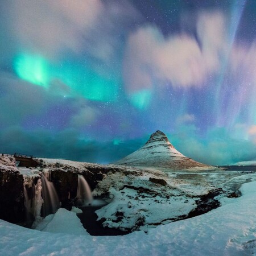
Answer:
[{"label": "large pinkish-grey cloud at top left above the green aurora", "polygon": [[24,46],[53,53],[67,48],[80,51],[80,31],[88,31],[101,15],[101,2],[18,1],[10,3],[13,33]]}]

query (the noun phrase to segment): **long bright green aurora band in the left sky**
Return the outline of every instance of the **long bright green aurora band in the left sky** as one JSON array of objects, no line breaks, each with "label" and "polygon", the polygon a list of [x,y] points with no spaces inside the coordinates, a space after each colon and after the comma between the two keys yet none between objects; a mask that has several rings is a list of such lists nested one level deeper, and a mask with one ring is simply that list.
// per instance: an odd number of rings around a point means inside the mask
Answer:
[{"label": "long bright green aurora band in the left sky", "polygon": [[80,94],[92,101],[115,101],[119,82],[112,77],[99,75],[88,67],[70,63],[50,64],[40,55],[19,54],[13,67],[16,75],[31,84],[49,88],[59,81],[71,90],[69,95]]}]

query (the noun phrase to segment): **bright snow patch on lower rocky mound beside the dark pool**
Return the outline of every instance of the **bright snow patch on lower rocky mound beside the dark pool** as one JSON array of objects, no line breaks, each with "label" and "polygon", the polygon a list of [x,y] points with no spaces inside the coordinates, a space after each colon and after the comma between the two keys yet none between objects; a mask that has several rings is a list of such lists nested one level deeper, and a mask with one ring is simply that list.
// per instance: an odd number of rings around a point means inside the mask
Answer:
[{"label": "bright snow patch on lower rocky mound beside the dark pool", "polygon": [[[147,193],[138,194],[134,189],[125,188],[122,191],[110,189],[113,200],[97,210],[98,220],[106,218],[104,226],[121,230],[137,228],[137,222],[143,220],[142,229],[155,226],[163,221],[170,222],[183,214],[188,214],[196,207],[195,198],[175,196],[171,198],[151,196]],[[122,220],[118,220],[121,213]]]}]

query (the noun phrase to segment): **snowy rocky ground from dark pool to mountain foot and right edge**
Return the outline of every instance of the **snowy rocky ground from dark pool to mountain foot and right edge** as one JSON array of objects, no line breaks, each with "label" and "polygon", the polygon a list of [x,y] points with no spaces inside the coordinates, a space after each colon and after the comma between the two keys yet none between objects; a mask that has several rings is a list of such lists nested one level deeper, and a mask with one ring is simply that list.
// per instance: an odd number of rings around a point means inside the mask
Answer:
[{"label": "snowy rocky ground from dark pool to mountain foot and right edge", "polygon": [[[133,171],[131,171],[133,170]],[[108,174],[93,191],[94,196],[109,192],[109,204],[97,210],[103,225],[121,230],[146,230],[158,224],[179,220],[196,209],[196,201],[210,191],[222,188],[222,196],[239,192],[243,183],[256,180],[256,174],[234,171],[168,171],[127,168],[126,173]],[[149,179],[165,180],[166,185]]]}]

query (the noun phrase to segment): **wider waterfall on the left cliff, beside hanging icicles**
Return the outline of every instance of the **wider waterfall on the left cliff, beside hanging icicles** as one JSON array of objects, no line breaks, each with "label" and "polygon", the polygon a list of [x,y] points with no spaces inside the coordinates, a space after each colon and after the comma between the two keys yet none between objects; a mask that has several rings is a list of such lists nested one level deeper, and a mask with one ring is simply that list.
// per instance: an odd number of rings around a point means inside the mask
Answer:
[{"label": "wider waterfall on the left cliff, beside hanging icicles", "polygon": [[42,216],[45,217],[48,214],[55,213],[60,207],[60,201],[57,196],[57,192],[52,182],[50,182],[46,176],[41,176],[42,181]]}]

